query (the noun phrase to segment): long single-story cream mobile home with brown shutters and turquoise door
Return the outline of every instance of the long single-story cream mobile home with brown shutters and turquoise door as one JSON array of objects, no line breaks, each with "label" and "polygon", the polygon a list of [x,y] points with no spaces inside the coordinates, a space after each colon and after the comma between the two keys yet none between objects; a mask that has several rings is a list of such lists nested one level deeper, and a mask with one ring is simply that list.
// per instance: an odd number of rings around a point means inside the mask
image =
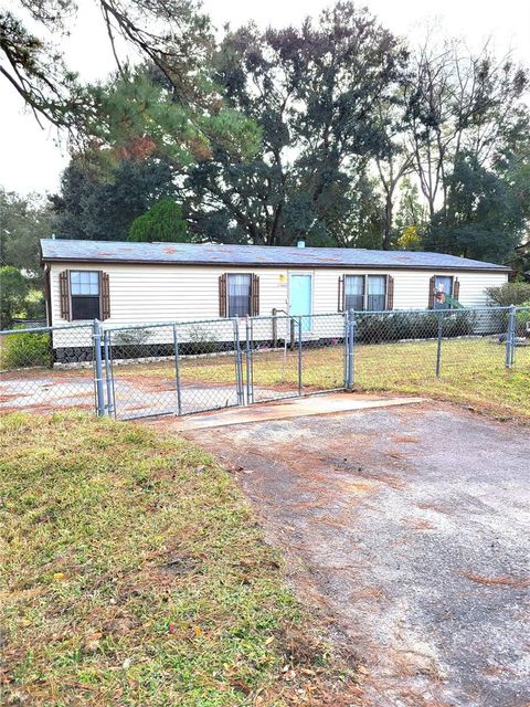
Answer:
[{"label": "long single-story cream mobile home with brown shutters and turquoise door", "polygon": [[[49,324],[110,325],[486,304],[510,268],[441,253],[41,241]],[[316,318],[307,317],[310,335]],[[314,331],[318,336],[318,331]]]}]

